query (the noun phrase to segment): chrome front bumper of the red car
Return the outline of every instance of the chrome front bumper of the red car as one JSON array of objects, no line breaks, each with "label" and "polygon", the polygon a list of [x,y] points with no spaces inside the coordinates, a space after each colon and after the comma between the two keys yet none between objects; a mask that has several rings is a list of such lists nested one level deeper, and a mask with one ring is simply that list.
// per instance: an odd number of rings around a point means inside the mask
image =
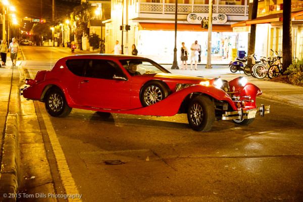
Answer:
[{"label": "chrome front bumper of the red car", "polygon": [[243,110],[240,109],[238,111],[234,112],[225,112],[225,114],[222,115],[222,120],[232,120],[232,119],[252,119],[256,117],[257,113],[260,113],[262,117],[264,117],[265,114],[269,114],[270,106],[264,106],[261,105],[260,108],[251,109],[251,110]]}]

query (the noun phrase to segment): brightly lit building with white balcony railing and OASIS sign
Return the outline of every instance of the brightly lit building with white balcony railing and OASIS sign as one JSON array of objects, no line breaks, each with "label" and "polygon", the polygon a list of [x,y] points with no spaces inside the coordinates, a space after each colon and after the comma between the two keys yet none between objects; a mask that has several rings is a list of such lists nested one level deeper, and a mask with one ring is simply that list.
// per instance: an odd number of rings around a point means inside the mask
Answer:
[{"label": "brightly lit building with white balcony railing and OASIS sign", "polygon": [[[206,60],[208,29],[201,28],[200,22],[202,19],[208,19],[209,1],[177,1],[178,58],[182,42],[190,48],[197,40],[201,45],[201,60]],[[230,26],[247,19],[248,1],[213,0],[212,60],[230,60],[232,48],[247,51],[248,32],[234,33]],[[123,44],[124,54],[131,55],[132,44],[135,44],[138,55],[160,63],[172,63],[175,44],[175,0],[113,0],[111,19],[103,22],[106,53],[111,53],[116,40],[119,40],[119,43]],[[130,25],[130,30],[120,30],[121,25]]]}]

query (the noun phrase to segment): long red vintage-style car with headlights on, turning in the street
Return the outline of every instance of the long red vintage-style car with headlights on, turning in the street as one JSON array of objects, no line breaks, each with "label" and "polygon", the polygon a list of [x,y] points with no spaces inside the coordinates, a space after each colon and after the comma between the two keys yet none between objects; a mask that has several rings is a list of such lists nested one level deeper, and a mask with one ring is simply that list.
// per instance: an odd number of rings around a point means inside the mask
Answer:
[{"label": "long red vintage-style car with headlights on, turning in the street", "polygon": [[245,77],[227,82],[181,76],[135,56],[70,56],[25,83],[30,86],[20,93],[44,102],[54,117],[65,117],[72,108],[97,111],[102,116],[186,113],[193,130],[209,131],[216,118],[248,125],[257,112],[261,116],[269,113],[269,106],[256,107],[256,97],[262,91]]}]

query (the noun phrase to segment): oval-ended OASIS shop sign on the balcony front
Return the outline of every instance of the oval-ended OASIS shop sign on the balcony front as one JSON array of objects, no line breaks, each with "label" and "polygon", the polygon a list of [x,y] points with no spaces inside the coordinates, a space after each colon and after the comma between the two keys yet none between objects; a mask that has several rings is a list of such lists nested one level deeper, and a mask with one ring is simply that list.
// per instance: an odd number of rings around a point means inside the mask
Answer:
[{"label": "oval-ended OASIS shop sign on the balcony front", "polygon": [[[187,22],[192,24],[200,24],[201,20],[208,20],[208,13],[189,13],[187,15]],[[213,13],[213,24],[225,24],[227,22],[227,15],[221,13]]]}]

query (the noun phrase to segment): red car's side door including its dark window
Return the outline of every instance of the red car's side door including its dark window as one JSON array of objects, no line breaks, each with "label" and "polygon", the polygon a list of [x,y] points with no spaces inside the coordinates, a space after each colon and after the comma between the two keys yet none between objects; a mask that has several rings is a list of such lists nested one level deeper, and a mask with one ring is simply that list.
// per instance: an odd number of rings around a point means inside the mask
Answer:
[{"label": "red car's side door including its dark window", "polygon": [[131,81],[117,63],[91,59],[79,83],[79,103],[94,108],[129,109],[130,88]]}]

